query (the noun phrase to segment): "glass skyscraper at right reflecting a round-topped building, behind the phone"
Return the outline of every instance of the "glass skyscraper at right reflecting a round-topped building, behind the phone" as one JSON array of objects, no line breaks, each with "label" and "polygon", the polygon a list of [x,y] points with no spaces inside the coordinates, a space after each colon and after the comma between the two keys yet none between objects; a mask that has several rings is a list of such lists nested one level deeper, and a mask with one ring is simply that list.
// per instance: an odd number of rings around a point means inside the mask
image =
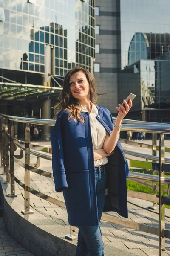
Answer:
[{"label": "glass skyscraper at right reflecting a round-topped building, behind the phone", "polygon": [[170,1],[120,0],[120,24],[118,101],[135,93],[131,117],[170,122]]}]

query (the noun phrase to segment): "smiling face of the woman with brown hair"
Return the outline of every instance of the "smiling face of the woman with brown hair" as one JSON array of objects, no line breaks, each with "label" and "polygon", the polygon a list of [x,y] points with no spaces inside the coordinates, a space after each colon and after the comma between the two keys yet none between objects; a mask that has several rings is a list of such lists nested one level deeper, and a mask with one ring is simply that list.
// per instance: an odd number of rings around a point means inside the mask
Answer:
[{"label": "smiling face of the woman with brown hair", "polygon": [[74,73],[70,77],[70,90],[74,98],[78,99],[89,99],[89,83],[88,79],[82,71]]}]

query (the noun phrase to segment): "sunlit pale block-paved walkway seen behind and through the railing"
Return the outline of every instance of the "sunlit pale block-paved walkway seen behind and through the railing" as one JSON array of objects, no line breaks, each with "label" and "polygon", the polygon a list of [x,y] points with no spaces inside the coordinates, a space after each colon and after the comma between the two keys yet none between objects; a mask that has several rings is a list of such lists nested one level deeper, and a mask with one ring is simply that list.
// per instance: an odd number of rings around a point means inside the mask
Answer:
[{"label": "sunlit pale block-paved walkway seen behind and through the railing", "polygon": [[[39,142],[36,142],[34,144],[38,143]],[[50,142],[40,142],[40,144],[50,146]],[[129,147],[129,145],[123,145],[123,147]],[[146,152],[146,148],[136,148],[135,150],[138,149],[140,152]],[[15,154],[17,153],[15,152]],[[30,159],[30,163],[36,163],[36,157],[31,156]],[[24,161],[24,157],[22,160]],[[51,161],[41,159],[40,162],[40,169],[42,168],[48,172],[52,172]],[[15,176],[24,182],[24,170],[22,167],[17,166],[16,164]],[[50,178],[30,172],[30,186],[37,191],[53,196],[54,198],[64,200],[62,192],[55,192],[54,181]],[[24,190],[20,186],[19,189],[24,196]],[[30,204],[35,210],[57,222],[58,224],[68,225],[68,216],[65,208],[49,203],[48,201],[38,198],[32,194],[30,194]],[[153,227],[159,227],[158,210],[149,210],[147,207],[150,205],[151,203],[148,201],[128,198],[129,220],[136,221],[137,223],[147,224]],[[165,209],[165,212],[166,229],[170,229],[170,209]],[[120,217],[115,212],[109,212],[109,214]],[[138,256],[159,256],[158,236],[125,228],[116,224],[111,224],[106,221],[101,221],[101,230],[105,246],[107,244],[113,246],[113,250],[115,250],[115,248],[119,248]],[[165,255],[170,255],[170,239],[166,239]]]}]

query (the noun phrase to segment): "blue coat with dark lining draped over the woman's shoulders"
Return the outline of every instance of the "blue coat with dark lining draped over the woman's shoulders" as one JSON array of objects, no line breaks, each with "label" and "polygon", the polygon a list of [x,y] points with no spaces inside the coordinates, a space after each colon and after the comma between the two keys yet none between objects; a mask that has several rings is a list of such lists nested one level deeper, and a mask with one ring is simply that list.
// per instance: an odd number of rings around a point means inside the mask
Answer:
[{"label": "blue coat with dark lining draped over the woman's shoulders", "polygon": [[[113,130],[113,118],[107,108],[96,106],[96,118],[108,134]],[[51,130],[52,168],[56,191],[63,191],[72,226],[98,225],[94,149],[88,112],[85,123],[68,121],[68,111],[61,111]],[[126,178],[130,177],[127,161],[118,140],[115,153],[106,165],[108,195],[103,211],[115,211],[127,218]]]}]

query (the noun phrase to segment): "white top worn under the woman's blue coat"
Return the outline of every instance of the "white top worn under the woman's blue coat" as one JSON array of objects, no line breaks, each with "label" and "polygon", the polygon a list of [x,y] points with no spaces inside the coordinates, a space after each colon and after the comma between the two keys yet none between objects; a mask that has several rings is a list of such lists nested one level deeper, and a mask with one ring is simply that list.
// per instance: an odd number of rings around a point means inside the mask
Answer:
[{"label": "white top worn under the woman's blue coat", "polygon": [[[82,105],[82,111],[88,112],[86,108],[84,108]],[[98,109],[96,108],[96,105],[93,104],[91,112],[89,114],[90,116],[90,122],[91,122],[91,137],[93,142],[93,148],[95,149],[103,149],[103,144],[106,137],[106,130],[104,126],[96,119],[96,116],[98,114]],[[94,166],[98,167],[102,164],[108,163],[108,157],[103,157],[102,159],[94,161]]]}]

